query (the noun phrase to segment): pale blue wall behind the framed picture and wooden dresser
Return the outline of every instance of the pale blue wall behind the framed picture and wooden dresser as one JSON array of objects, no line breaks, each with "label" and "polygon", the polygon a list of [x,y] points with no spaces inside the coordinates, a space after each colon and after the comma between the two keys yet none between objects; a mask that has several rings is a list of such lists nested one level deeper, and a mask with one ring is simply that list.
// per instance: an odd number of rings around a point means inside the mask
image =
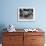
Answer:
[{"label": "pale blue wall behind the framed picture and wooden dresser", "polygon": [[[13,24],[16,28],[46,28],[46,0],[0,0],[0,27]],[[33,22],[18,22],[17,8],[33,7],[36,10],[36,20]]]}]

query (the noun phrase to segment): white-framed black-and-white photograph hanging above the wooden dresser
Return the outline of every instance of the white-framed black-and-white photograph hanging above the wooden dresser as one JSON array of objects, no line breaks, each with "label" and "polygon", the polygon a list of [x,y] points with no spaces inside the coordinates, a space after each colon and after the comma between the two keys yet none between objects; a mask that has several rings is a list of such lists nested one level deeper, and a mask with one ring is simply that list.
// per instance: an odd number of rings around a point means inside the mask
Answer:
[{"label": "white-framed black-and-white photograph hanging above the wooden dresser", "polygon": [[19,7],[18,21],[35,21],[35,8]]}]

